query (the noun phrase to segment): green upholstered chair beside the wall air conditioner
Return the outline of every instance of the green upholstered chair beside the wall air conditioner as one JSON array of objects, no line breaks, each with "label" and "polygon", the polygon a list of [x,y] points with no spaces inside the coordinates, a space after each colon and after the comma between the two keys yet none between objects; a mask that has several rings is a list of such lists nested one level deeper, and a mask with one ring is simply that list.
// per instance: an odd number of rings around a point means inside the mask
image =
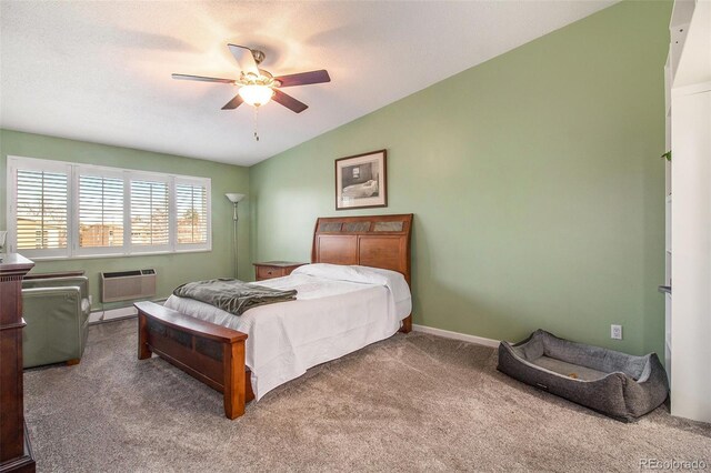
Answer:
[{"label": "green upholstered chair beside the wall air conditioner", "polygon": [[89,280],[86,276],[22,281],[22,365],[77,364],[89,333]]}]

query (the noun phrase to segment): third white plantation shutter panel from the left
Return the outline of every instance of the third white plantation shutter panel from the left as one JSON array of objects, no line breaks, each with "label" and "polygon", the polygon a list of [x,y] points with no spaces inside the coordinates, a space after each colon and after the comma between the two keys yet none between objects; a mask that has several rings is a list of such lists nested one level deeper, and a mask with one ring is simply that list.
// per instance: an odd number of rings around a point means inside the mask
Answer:
[{"label": "third white plantation shutter panel from the left", "polygon": [[168,246],[168,182],[131,181],[131,245]]}]

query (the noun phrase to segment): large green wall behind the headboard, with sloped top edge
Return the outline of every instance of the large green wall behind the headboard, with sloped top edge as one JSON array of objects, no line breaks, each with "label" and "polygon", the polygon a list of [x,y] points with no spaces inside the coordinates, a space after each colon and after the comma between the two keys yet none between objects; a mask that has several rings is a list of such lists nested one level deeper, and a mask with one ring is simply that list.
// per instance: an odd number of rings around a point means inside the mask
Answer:
[{"label": "large green wall behind the headboard, with sloped top edge", "polygon": [[[663,356],[670,12],[618,3],[253,165],[252,258],[308,261],[319,215],[412,212],[414,323]],[[383,148],[389,207],[336,212],[333,160]]]}]

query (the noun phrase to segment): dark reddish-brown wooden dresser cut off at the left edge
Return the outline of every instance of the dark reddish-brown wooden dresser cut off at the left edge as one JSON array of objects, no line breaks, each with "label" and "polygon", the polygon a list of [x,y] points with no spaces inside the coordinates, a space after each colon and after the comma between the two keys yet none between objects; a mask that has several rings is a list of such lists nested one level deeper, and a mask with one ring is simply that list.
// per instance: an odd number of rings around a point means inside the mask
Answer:
[{"label": "dark reddish-brown wooden dresser cut off at the left edge", "polygon": [[0,254],[0,473],[33,472],[22,399],[22,278],[34,263]]}]

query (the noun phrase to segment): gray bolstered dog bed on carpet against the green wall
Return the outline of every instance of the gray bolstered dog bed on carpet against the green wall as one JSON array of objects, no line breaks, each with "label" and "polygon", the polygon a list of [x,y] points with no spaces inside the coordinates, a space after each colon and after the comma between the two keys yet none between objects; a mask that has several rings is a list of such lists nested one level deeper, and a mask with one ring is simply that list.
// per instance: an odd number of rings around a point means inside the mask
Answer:
[{"label": "gray bolstered dog bed on carpet against the green wall", "polygon": [[633,356],[559,339],[537,330],[499,345],[499,371],[611,417],[631,421],[658,407],[669,393],[655,353]]}]

